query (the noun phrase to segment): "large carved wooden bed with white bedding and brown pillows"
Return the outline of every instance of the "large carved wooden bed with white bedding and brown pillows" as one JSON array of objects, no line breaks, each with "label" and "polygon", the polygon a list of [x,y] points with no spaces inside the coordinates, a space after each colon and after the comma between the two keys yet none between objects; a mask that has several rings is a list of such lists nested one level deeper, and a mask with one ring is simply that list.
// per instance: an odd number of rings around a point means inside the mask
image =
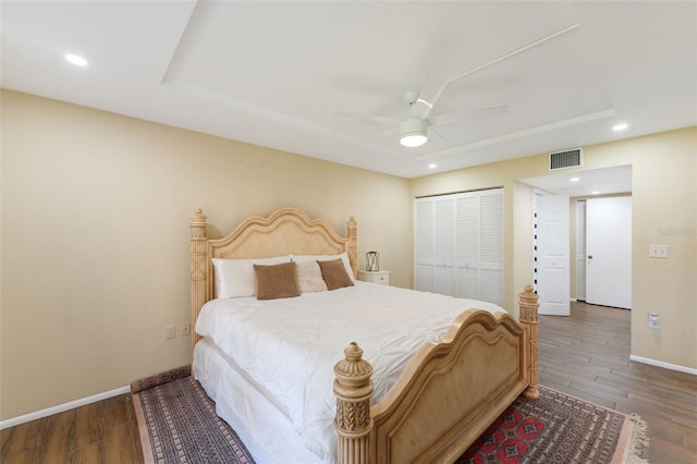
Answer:
[{"label": "large carved wooden bed with white bedding and brown pillows", "polygon": [[[258,464],[452,462],[519,394],[539,398],[529,285],[516,320],[484,302],[356,281],[354,218],[345,236],[294,208],[217,240],[200,209],[189,227],[193,375]],[[261,300],[259,281],[256,296],[218,297],[230,295],[216,282],[223,265],[296,272],[304,260],[345,269],[351,284]],[[438,329],[415,329],[427,321]]]}]

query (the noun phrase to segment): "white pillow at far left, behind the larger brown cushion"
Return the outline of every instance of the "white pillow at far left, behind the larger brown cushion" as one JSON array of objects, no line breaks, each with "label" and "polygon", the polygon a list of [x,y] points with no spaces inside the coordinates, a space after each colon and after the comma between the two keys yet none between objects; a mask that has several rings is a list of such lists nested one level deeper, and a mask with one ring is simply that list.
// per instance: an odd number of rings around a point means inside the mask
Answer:
[{"label": "white pillow at far left, behind the larger brown cushion", "polygon": [[216,273],[216,293],[219,298],[236,298],[257,294],[257,277],[254,265],[280,265],[290,262],[291,256],[276,256],[261,259],[212,258]]}]

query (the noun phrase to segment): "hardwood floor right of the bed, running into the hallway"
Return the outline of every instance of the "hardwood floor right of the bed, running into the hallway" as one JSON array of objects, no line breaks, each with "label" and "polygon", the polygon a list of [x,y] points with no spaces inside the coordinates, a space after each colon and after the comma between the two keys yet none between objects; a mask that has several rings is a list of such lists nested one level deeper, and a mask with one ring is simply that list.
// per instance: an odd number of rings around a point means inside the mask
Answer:
[{"label": "hardwood floor right of the bed, running into the hallway", "polygon": [[629,361],[626,309],[572,304],[571,317],[540,316],[539,382],[641,416],[650,463],[697,463],[697,376]]}]

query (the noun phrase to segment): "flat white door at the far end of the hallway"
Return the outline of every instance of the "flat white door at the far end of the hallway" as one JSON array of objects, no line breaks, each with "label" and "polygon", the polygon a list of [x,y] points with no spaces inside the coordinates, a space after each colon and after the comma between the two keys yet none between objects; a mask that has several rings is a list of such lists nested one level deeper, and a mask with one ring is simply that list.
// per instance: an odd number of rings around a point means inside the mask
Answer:
[{"label": "flat white door at the far end of the hallway", "polygon": [[586,202],[586,302],[632,307],[632,197]]}]

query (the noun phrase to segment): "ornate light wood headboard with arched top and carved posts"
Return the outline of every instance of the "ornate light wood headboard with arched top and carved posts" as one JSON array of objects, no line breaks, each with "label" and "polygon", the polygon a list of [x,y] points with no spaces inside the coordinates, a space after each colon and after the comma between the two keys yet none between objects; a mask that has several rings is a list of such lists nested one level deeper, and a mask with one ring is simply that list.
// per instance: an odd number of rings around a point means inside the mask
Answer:
[{"label": "ornate light wood headboard with arched top and carved posts", "polygon": [[[339,235],[323,219],[310,219],[295,208],[283,208],[268,218],[252,217],[229,235],[208,240],[206,216],[197,208],[189,220],[192,330],[206,302],[216,297],[216,279],[211,258],[270,258],[282,255],[348,254],[354,277],[357,271],[356,220],[346,224],[345,237]],[[195,331],[192,343],[200,340]]]}]

